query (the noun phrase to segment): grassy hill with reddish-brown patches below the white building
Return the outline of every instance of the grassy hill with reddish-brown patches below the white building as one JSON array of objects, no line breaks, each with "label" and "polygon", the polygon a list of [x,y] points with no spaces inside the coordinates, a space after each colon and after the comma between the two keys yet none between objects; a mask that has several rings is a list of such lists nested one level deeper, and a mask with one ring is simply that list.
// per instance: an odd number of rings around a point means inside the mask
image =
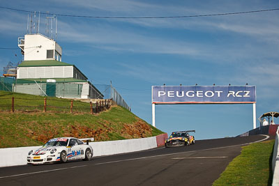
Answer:
[{"label": "grassy hill with reddish-brown patches below the white building", "polygon": [[[1,107],[7,105],[7,100],[11,97],[22,99],[27,109],[31,108],[28,104],[32,106],[36,102],[28,101],[29,98],[44,98],[0,91],[0,148],[39,146],[54,137],[94,137],[96,141],[109,141],[153,137],[164,133],[119,106],[112,106],[107,111],[94,115],[57,111],[11,113],[6,107]],[[87,103],[75,101],[74,104]]]}]

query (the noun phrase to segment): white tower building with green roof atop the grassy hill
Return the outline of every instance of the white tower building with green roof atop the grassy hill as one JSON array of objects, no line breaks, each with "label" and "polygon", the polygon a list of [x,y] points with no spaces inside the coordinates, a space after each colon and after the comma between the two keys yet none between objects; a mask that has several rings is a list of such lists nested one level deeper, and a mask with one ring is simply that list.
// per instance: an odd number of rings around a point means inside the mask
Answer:
[{"label": "white tower building with green roof atop the grassy hill", "polygon": [[[103,99],[103,94],[75,66],[61,61],[62,48],[40,33],[18,39],[24,61],[17,67],[13,91],[60,98]],[[52,80],[48,80],[52,79]]]}]

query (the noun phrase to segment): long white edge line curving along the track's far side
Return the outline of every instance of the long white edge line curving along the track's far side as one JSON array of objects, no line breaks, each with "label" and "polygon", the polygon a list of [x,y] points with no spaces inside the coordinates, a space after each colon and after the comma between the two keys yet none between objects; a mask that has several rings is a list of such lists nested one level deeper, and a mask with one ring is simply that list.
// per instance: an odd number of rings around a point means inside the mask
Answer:
[{"label": "long white edge line curving along the track's far side", "polygon": [[[246,143],[246,144],[234,145],[234,146],[245,146],[245,145],[255,144],[257,142],[269,139],[269,136],[267,136],[267,135],[263,135],[262,134],[262,136],[265,136],[266,138],[258,140],[258,141],[254,141],[254,142],[250,142],[250,143]],[[229,147],[234,147],[234,146],[223,146],[223,147],[216,147],[216,148],[207,148],[207,149],[204,149],[204,150],[192,150],[192,151],[188,151],[188,152],[169,153],[169,154],[165,154],[165,155],[151,155],[151,156],[146,156],[146,157],[137,157],[137,158],[127,159],[127,160],[116,160],[116,161],[112,161],[112,162],[103,162],[103,163],[98,163],[98,164],[112,164],[112,163],[117,163],[117,162],[126,162],[126,161],[131,161],[131,160],[142,160],[142,159],[151,158],[151,157],[161,157],[161,156],[166,156],[166,155],[178,155],[178,154],[183,154],[183,153],[194,153],[196,151],[215,150],[215,149],[229,148]],[[96,165],[98,165],[98,164],[96,164]]]}]

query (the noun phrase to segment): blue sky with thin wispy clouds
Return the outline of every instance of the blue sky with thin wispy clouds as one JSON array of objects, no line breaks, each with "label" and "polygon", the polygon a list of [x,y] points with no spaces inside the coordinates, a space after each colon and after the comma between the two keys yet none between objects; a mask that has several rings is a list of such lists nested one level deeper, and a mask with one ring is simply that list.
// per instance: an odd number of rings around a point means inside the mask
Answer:
[{"label": "blue sky with thin wispy clouds", "polygon": [[[209,15],[279,8],[279,1],[1,0],[0,7],[56,14],[62,61],[77,66],[93,84],[112,81],[147,123],[152,123],[151,86],[163,84],[248,83],[257,87],[256,118],[279,111],[279,10],[164,19],[61,16]],[[0,9],[0,48],[10,48],[0,49],[1,71],[9,61],[22,60],[17,38],[27,33],[31,13]],[[45,34],[43,14],[40,33]],[[252,104],[157,104],[156,127],[168,134],[196,130],[196,139],[235,137],[252,129]]]}]

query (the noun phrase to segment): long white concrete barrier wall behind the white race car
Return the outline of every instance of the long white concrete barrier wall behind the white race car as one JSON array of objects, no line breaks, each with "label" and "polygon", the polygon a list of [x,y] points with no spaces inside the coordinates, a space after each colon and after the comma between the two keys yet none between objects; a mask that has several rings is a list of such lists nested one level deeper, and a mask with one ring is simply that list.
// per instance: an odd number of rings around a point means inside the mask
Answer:
[{"label": "long white concrete barrier wall behind the white race car", "polygon": [[[167,134],[141,139],[91,142],[89,145],[93,148],[93,157],[130,153],[162,146],[162,144],[165,143],[165,135]],[[29,151],[36,150],[40,147],[41,146],[0,148],[0,167],[27,164],[27,155]]]}]

